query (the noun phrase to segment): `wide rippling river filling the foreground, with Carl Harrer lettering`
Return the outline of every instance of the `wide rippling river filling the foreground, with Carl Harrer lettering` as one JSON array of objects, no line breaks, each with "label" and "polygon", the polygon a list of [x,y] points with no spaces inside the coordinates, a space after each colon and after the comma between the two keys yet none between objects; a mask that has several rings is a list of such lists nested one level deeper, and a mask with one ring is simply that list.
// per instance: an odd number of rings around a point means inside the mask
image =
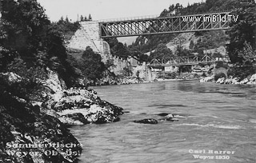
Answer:
[{"label": "wide rippling river filling the foreground, with Carl Harrer lettering", "polygon": [[[256,162],[256,85],[163,81],[93,89],[128,113],[118,122],[71,128],[83,145],[81,163]],[[133,122],[158,120],[158,113],[178,121]]]}]

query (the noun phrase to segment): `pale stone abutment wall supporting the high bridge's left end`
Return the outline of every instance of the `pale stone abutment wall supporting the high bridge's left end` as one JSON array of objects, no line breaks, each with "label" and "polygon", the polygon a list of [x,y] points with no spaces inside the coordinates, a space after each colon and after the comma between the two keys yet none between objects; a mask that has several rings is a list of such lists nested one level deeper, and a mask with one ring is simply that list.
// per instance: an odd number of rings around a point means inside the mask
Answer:
[{"label": "pale stone abutment wall supporting the high bridge's left end", "polygon": [[111,71],[114,74],[120,74],[124,67],[129,66],[129,62],[110,54],[110,46],[107,42],[103,41],[99,36],[99,23],[98,21],[80,22],[81,28],[77,30],[74,36],[68,42],[67,47],[75,50],[86,50],[90,46],[95,53],[102,56],[102,62],[106,63],[107,60],[113,60],[114,67]]}]

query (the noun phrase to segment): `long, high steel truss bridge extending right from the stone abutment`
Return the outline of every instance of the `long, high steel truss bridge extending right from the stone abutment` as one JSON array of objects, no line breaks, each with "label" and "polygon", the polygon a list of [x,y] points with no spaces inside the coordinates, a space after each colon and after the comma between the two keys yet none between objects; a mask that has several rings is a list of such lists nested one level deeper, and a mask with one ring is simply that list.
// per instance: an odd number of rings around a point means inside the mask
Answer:
[{"label": "long, high steel truss bridge extending right from the stone abutment", "polygon": [[147,34],[174,34],[202,30],[226,30],[234,18],[230,12],[182,15],[167,18],[134,18],[99,22],[100,37],[128,37]]}]

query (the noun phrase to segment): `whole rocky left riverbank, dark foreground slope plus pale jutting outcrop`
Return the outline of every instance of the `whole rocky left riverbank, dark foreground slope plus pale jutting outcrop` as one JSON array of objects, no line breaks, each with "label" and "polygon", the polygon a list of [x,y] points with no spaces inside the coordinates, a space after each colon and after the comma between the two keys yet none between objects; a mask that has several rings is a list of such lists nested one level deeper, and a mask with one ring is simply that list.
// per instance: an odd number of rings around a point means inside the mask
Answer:
[{"label": "whole rocky left riverbank, dark foreground slope plus pale jutting outcrop", "polygon": [[[0,162],[77,162],[82,145],[67,126],[119,120],[122,108],[102,101],[92,89],[70,88],[49,70],[49,78],[17,97],[4,86],[19,84],[22,77],[1,74]],[[23,80],[24,81],[24,80]],[[26,80],[25,80],[26,81]]]}]

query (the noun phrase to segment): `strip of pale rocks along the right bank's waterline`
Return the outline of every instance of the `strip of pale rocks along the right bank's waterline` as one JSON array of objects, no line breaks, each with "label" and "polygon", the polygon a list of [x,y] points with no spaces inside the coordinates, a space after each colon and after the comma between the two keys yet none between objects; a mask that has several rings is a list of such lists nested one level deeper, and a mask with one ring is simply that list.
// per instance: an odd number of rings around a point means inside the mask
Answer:
[{"label": "strip of pale rocks along the right bank's waterline", "polygon": [[[214,81],[214,76],[202,78],[200,82],[209,82]],[[253,85],[256,84],[256,74],[253,74],[247,78],[241,79],[241,78],[218,78],[217,81],[214,81],[218,84],[234,84],[234,85]]]}]

